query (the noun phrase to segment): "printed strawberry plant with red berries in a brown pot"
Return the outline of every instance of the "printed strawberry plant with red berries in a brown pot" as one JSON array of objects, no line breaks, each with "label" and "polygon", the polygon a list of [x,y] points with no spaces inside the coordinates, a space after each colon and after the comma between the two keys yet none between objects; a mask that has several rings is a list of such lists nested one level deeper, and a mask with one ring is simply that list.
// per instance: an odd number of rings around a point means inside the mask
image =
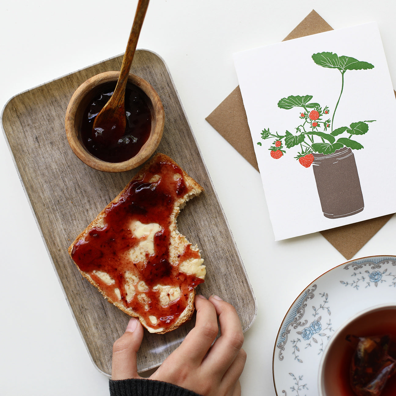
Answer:
[{"label": "printed strawberry plant with red berries in a brown pot", "polygon": [[[271,133],[269,128],[261,132],[261,139],[274,139],[270,156],[279,160],[286,150],[294,149],[294,158],[305,168],[313,165],[316,187],[325,217],[335,219],[359,213],[364,201],[356,162],[352,150],[364,148],[356,139],[369,130],[375,120],[352,122],[349,126],[334,128],[335,113],[344,92],[345,73],[348,70],[368,70],[374,66],[345,55],[332,52],[312,55],[316,65],[337,69],[341,74],[341,92],[332,111],[312,101],[312,95],[288,96],[280,99],[278,107],[297,110],[297,126],[293,133]],[[350,111],[350,110],[349,110]],[[332,115],[331,115],[332,112]],[[257,142],[261,146],[261,142]]]}]

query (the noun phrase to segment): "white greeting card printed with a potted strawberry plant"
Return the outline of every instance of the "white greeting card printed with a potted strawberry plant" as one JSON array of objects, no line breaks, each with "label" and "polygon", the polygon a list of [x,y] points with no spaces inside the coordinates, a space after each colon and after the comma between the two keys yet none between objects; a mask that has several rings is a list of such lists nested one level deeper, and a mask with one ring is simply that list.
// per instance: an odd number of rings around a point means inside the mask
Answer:
[{"label": "white greeting card printed with a potted strawberry plant", "polygon": [[376,23],[234,63],[276,240],[396,211],[396,101]]}]

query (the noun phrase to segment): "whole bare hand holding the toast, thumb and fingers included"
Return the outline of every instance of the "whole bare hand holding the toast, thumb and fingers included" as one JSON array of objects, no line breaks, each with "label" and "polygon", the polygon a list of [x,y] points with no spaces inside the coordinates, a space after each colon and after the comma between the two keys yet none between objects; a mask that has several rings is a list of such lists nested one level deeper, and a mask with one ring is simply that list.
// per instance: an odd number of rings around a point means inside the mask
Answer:
[{"label": "whole bare hand holding the toast, thumb and fingers included", "polygon": [[[240,395],[239,377],[246,362],[244,336],[232,305],[217,296],[195,297],[196,324],[149,379],[168,382],[204,396]],[[219,317],[221,336],[218,333]],[[143,326],[131,318],[125,333],[114,343],[112,379],[141,378],[136,356]],[[212,345],[213,343],[213,345]]]}]

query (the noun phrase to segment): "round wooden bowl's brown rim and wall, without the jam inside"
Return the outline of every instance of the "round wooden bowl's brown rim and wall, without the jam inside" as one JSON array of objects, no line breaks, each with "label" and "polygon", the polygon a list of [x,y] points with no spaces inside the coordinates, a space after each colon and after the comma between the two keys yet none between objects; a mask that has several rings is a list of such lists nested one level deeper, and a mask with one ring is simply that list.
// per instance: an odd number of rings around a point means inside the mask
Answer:
[{"label": "round wooden bowl's brown rim and wall, without the jam inside", "polygon": [[162,138],[164,130],[164,107],[155,89],[143,78],[129,74],[128,82],[141,88],[148,98],[151,110],[151,132],[147,142],[140,151],[127,161],[106,162],[92,155],[82,143],[81,124],[84,111],[93,98],[100,92],[101,86],[109,82],[116,82],[120,72],[110,71],[97,74],[81,84],[74,92],[66,110],[65,128],[69,145],[74,154],[91,168],[105,172],[123,172],[143,164],[154,153]]}]

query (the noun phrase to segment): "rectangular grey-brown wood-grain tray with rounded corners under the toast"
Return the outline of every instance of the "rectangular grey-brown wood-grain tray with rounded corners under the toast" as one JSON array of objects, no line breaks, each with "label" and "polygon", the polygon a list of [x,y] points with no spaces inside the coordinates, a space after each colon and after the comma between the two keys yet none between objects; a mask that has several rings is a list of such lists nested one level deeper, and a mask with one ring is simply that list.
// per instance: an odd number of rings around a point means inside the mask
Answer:
[{"label": "rectangular grey-brown wood-grain tray with rounded corners under the toast", "polygon": [[[6,139],[76,324],[93,363],[106,375],[111,372],[112,344],[124,333],[129,316],[81,277],[67,248],[137,169],[105,173],[83,164],[67,143],[64,117],[82,82],[120,70],[121,62],[122,55],[20,93],[2,114]],[[207,278],[198,293],[218,294],[232,303],[246,331],[256,316],[255,296],[166,65],[155,53],[138,50],[131,72],[150,82],[164,104],[164,135],[157,151],[173,158],[205,189],[178,218],[180,232],[198,244],[205,259]],[[139,371],[159,366],[194,322],[165,335],[146,331],[138,354]]]}]

